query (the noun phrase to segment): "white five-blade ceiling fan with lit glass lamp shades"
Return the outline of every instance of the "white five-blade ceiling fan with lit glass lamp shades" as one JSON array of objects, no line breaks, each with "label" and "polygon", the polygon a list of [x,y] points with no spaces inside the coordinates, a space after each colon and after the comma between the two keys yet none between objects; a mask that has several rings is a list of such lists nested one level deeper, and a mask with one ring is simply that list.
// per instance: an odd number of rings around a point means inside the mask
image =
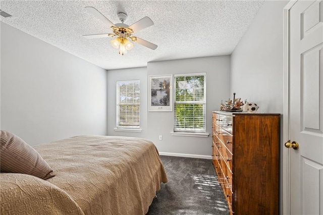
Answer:
[{"label": "white five-blade ceiling fan with lit glass lamp shades", "polygon": [[103,16],[95,8],[85,7],[85,9],[89,13],[93,14],[96,18],[106,23],[110,28],[112,28],[113,33],[83,35],[84,37],[93,39],[93,38],[117,36],[115,39],[111,40],[111,44],[114,48],[119,48],[119,54],[122,54],[122,55],[124,55],[124,53],[127,53],[127,51],[132,49],[133,47],[133,43],[131,43],[129,40],[133,42],[137,42],[152,50],[157,48],[157,45],[132,35],[135,32],[138,32],[144,28],[147,28],[153,25],[153,22],[149,17],[144,17],[141,20],[135,22],[134,24],[128,26],[124,24],[124,22],[128,17],[127,14],[125,13],[122,13],[122,12],[118,13],[118,18],[121,21],[121,23],[113,24],[109,19]]}]

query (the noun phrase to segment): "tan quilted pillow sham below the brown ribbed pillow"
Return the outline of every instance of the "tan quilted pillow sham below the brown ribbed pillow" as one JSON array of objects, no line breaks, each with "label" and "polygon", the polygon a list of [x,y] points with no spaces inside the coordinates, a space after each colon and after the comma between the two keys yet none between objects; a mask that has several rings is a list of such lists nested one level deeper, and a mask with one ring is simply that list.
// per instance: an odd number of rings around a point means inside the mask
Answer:
[{"label": "tan quilted pillow sham below the brown ribbed pillow", "polygon": [[35,176],[0,173],[1,214],[84,214],[62,189]]}]

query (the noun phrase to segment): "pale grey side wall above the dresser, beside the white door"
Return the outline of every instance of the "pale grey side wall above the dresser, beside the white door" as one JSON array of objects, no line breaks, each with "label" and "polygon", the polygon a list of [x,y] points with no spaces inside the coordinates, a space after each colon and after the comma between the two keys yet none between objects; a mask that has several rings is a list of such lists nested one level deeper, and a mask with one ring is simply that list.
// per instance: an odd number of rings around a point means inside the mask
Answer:
[{"label": "pale grey side wall above the dresser, beside the white door", "polygon": [[283,8],[265,1],[231,55],[231,92],[258,112],[283,113]]}]

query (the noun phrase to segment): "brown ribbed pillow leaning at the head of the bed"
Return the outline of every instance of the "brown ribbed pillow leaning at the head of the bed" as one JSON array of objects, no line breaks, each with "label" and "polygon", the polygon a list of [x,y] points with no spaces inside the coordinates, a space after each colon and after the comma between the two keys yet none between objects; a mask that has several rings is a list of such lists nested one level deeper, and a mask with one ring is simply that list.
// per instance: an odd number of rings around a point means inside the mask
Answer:
[{"label": "brown ribbed pillow leaning at the head of the bed", "polygon": [[55,176],[40,154],[15,134],[2,130],[0,148],[1,172],[23,173],[44,180]]}]

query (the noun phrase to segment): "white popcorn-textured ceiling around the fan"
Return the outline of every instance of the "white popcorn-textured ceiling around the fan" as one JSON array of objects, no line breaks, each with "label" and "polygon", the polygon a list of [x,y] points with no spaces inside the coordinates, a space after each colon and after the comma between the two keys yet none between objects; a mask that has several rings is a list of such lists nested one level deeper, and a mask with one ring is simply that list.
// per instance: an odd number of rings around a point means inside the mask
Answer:
[{"label": "white popcorn-textured ceiling around the fan", "polygon": [[[104,69],[145,67],[147,62],[230,55],[263,1],[1,1],[13,17],[1,21]],[[154,25],[134,36],[157,44],[140,44],[121,56],[112,38],[85,34],[112,33],[84,7],[94,7],[113,23],[128,14],[131,25],[148,16]]]}]

